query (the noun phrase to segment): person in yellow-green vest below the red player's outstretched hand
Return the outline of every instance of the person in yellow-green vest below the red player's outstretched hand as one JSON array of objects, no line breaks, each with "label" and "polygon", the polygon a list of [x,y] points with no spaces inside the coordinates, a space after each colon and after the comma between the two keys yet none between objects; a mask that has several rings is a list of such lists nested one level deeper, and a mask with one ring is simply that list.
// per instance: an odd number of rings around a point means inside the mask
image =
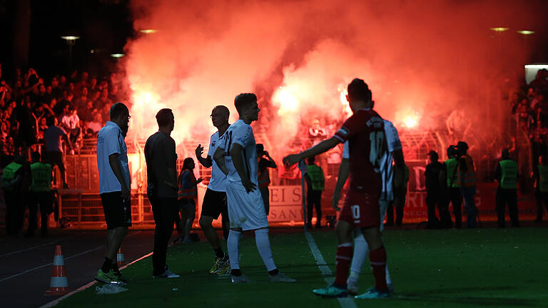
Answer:
[{"label": "person in yellow-green vest below the red player's outstretched hand", "polygon": [[306,193],[306,226],[312,227],[312,210],[316,208],[316,228],[322,227],[322,191],[325,189],[325,178],[320,166],[314,164],[314,156],[308,158],[308,167],[305,172],[305,180],[308,183]]}]

